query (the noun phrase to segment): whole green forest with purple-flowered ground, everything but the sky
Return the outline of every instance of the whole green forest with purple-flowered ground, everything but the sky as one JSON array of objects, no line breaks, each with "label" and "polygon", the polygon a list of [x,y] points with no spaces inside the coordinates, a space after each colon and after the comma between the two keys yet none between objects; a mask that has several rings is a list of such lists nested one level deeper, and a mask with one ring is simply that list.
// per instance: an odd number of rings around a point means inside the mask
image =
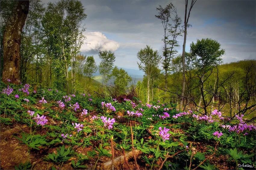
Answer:
[{"label": "whole green forest with purple-flowered ground, everything but the sky", "polygon": [[162,50],[134,54],[139,80],[82,52],[81,1],[0,3],[1,169],[255,169],[256,60],[186,43],[200,1],[155,6]]}]

